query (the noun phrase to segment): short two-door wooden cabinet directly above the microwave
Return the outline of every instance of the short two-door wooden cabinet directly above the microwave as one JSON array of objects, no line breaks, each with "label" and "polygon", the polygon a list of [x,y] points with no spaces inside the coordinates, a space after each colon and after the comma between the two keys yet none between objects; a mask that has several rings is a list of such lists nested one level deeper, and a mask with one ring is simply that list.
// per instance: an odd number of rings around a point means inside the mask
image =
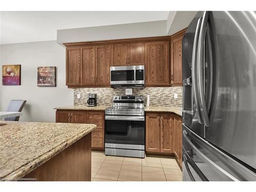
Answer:
[{"label": "short two-door wooden cabinet directly above the microwave", "polygon": [[144,42],[112,45],[111,66],[144,65],[144,49]]}]

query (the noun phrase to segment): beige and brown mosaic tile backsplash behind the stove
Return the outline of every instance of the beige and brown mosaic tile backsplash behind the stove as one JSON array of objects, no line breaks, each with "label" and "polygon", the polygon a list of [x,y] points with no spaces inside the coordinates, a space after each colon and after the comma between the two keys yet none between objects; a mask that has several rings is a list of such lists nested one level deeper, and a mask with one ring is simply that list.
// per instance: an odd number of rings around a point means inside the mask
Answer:
[{"label": "beige and brown mosaic tile backsplash behind the stove", "polygon": [[[79,88],[74,90],[74,105],[86,105],[87,95],[97,94],[97,105],[112,105],[115,95],[125,95],[125,88]],[[174,93],[178,98],[174,98]],[[80,94],[80,99],[77,99]],[[150,106],[182,106],[182,87],[133,88],[133,95],[150,95]]]}]

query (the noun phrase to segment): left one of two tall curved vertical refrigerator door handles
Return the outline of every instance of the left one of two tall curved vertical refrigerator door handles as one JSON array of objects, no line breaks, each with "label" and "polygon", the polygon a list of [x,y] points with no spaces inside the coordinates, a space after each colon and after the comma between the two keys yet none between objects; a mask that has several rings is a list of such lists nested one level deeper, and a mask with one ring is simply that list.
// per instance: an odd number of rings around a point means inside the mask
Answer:
[{"label": "left one of two tall curved vertical refrigerator door handles", "polygon": [[198,96],[198,83],[197,83],[197,51],[198,51],[198,38],[199,38],[199,31],[200,31],[200,26],[202,23],[202,17],[198,19],[197,22],[197,28],[195,32],[195,38],[194,38],[194,43],[193,43],[193,51],[192,51],[192,65],[191,65],[191,76],[192,76],[192,90],[193,90],[193,100],[195,102],[195,108],[197,111],[198,115],[198,122],[203,123],[202,121],[202,115],[199,109],[199,96]]}]

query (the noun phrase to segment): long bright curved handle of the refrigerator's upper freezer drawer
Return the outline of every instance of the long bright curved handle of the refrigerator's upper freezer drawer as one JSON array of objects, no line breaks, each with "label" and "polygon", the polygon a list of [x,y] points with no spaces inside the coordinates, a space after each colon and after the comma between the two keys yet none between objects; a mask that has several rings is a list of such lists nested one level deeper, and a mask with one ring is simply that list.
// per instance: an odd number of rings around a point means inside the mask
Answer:
[{"label": "long bright curved handle of the refrigerator's upper freezer drawer", "polygon": [[191,148],[193,148],[193,151],[197,154],[198,157],[200,157],[205,163],[207,163],[210,167],[213,169],[217,169],[220,172],[222,172],[225,176],[227,176],[229,179],[233,181],[239,181],[237,178],[233,177],[231,174],[227,173],[226,170],[221,168],[219,165],[211,161],[208,157],[206,157],[200,150],[188,139],[186,136],[184,130],[182,131],[183,139],[186,140],[186,142],[190,145]]}]

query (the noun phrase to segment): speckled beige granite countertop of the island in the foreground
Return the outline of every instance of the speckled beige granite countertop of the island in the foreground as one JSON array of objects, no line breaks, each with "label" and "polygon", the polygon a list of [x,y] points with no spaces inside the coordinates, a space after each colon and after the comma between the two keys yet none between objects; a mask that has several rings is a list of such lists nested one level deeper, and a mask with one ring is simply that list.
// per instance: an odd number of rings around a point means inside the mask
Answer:
[{"label": "speckled beige granite countertop of the island in the foreground", "polygon": [[0,121],[0,178],[22,178],[96,128],[95,124]]}]

